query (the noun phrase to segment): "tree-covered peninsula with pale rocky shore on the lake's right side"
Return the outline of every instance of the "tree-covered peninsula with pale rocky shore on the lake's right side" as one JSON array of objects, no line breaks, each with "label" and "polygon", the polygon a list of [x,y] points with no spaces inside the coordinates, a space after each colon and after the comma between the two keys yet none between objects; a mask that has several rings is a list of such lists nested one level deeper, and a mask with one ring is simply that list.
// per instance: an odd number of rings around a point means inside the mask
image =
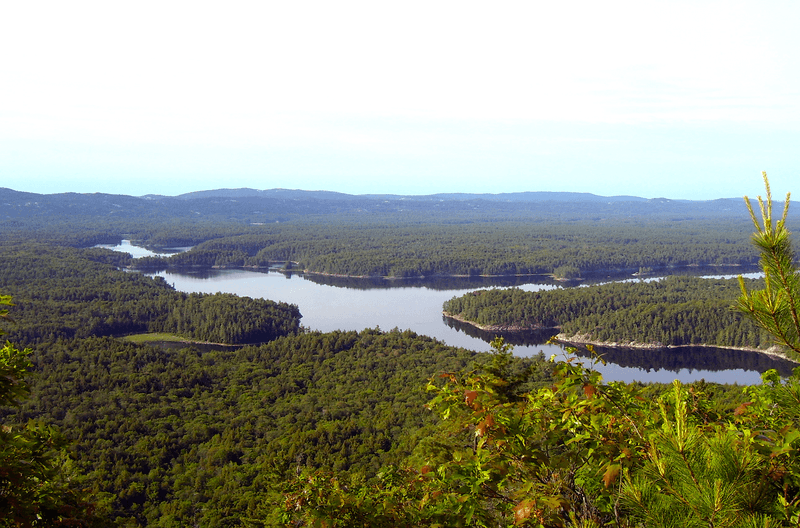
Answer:
[{"label": "tree-covered peninsula with pale rocky shore on the lake's right side", "polygon": [[771,345],[752,321],[732,309],[738,294],[735,279],[672,276],[539,292],[516,288],[476,291],[447,301],[443,309],[461,320],[498,329],[558,329],[565,340],[746,348]]}]

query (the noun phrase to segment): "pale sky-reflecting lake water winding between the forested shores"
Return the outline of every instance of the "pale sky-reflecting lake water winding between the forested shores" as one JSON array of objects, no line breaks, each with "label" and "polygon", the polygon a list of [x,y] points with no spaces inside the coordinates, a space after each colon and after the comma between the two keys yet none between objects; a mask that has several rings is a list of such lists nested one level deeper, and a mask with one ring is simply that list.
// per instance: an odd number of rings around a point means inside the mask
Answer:
[{"label": "pale sky-reflecting lake water winding between the forested shores", "polygon": [[[130,253],[131,247],[135,246],[116,246],[112,249]],[[150,254],[142,248],[136,250],[139,254],[135,256]],[[703,273],[703,270],[693,271]],[[301,324],[311,330],[361,331],[376,327],[390,330],[396,327],[434,337],[448,345],[477,351],[490,350],[488,341],[494,335],[444,318],[442,304],[445,301],[483,288],[514,286],[538,291],[563,287],[544,276],[393,281],[287,276],[278,272],[248,270],[170,270],[150,275],[163,277],[183,292],[234,293],[296,304],[303,315]],[[553,354],[566,357],[561,347],[543,344],[549,337],[547,333],[506,336],[515,345],[516,355],[530,356],[541,351],[548,357]],[[705,379],[749,385],[760,383],[760,373],[768,369],[775,368],[788,376],[794,366],[764,354],[718,348],[600,351],[607,364],[597,365],[596,368],[608,381],[670,383],[679,379],[690,383]]]}]

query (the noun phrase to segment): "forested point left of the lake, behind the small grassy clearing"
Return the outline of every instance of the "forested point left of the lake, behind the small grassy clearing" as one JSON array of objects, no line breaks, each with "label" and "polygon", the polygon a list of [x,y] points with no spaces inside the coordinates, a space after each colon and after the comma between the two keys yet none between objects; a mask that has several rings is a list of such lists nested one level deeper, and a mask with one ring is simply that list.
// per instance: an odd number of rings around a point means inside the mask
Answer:
[{"label": "forested point left of the lake, behind the small grassy clearing", "polygon": [[185,294],[161,278],[117,269],[108,250],[2,246],[0,284],[16,303],[15,342],[171,332],[216,343],[256,343],[297,332],[295,305],[231,294]]}]

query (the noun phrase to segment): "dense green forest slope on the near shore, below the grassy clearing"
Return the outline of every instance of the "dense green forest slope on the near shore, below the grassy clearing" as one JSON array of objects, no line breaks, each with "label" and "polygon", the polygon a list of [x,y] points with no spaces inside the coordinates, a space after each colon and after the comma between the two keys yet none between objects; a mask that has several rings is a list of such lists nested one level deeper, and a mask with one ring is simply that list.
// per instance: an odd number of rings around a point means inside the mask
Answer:
[{"label": "dense green forest slope on the near shore, below the grassy clearing", "polygon": [[473,357],[375,330],[211,352],[73,339],[35,349],[34,397],[15,419],[75,440],[70,454],[115,522],[271,526],[298,471],[374,477],[409,456],[435,422],[426,380]]}]

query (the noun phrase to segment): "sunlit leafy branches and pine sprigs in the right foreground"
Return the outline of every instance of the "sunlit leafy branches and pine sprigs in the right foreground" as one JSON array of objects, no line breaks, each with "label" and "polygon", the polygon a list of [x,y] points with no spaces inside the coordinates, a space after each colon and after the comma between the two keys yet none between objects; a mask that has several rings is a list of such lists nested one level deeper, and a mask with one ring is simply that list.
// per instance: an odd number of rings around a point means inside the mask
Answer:
[{"label": "sunlit leafy branches and pine sprigs in the right foreground", "polygon": [[[751,208],[763,288],[741,281],[737,308],[800,353],[800,270],[786,208],[773,216],[769,182]],[[759,216],[761,218],[759,218]],[[575,361],[553,381],[517,390],[509,346],[490,365],[430,383],[442,418],[438,449],[419,470],[374,484],[310,474],[284,519],[324,526],[777,527],[800,522],[800,370],[766,372],[745,401],[722,409],[704,383],[653,397],[604,383]],[[591,348],[591,347],[590,347]]]}]

